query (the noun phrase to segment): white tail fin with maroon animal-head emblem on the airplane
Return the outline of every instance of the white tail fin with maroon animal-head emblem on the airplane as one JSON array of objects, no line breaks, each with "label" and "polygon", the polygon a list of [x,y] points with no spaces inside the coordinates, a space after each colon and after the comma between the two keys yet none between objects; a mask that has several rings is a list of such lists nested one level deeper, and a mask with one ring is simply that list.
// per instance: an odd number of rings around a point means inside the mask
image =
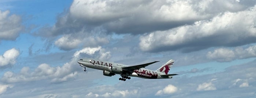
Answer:
[{"label": "white tail fin with maroon animal-head emblem on the airplane", "polygon": [[167,75],[173,63],[174,60],[169,60],[166,64],[158,68],[156,71]]}]

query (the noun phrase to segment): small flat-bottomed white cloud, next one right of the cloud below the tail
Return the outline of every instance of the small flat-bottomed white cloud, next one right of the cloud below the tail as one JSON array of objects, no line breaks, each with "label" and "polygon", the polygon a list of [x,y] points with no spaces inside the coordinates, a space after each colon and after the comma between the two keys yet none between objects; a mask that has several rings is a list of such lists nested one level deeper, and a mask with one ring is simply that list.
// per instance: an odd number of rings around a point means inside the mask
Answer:
[{"label": "small flat-bottomed white cloud, next one right of the cloud below the tail", "polygon": [[216,87],[211,82],[209,83],[204,82],[203,84],[199,84],[196,90],[197,91],[216,90]]}]

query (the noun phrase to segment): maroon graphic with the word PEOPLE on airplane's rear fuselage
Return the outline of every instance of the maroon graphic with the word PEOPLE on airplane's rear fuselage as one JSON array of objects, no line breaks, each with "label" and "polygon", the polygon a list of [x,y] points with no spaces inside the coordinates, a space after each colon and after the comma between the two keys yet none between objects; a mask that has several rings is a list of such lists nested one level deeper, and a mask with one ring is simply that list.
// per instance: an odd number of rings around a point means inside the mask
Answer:
[{"label": "maroon graphic with the word PEOPLE on airplane's rear fuselage", "polygon": [[151,71],[148,71],[148,70],[141,70],[141,69],[138,69],[138,70],[134,70],[135,73],[138,74],[138,76],[141,76],[141,77],[145,77],[145,78],[149,78],[149,79],[157,79],[157,72],[151,72]]}]

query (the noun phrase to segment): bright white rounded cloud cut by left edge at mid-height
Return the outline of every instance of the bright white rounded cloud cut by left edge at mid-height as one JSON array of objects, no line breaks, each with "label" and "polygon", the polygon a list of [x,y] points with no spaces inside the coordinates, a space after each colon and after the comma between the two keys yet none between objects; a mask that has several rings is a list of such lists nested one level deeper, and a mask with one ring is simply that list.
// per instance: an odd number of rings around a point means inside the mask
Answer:
[{"label": "bright white rounded cloud cut by left edge at mid-height", "polygon": [[19,56],[19,51],[15,48],[4,52],[3,56],[0,55],[0,68],[10,67],[16,63],[16,59]]}]

